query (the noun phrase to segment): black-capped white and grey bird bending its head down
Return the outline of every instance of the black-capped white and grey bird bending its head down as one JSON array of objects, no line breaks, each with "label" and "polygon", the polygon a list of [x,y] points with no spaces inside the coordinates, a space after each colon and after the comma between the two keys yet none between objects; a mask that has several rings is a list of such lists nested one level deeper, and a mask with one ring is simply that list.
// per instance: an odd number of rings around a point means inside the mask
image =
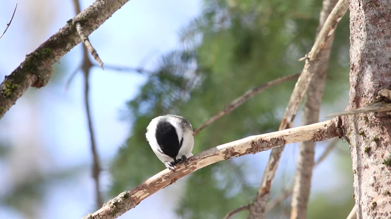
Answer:
[{"label": "black-capped white and grey bird bending its head down", "polygon": [[193,127],[187,119],[178,115],[164,115],[153,118],[147,126],[145,137],[152,151],[170,171],[175,164],[193,156]]}]

